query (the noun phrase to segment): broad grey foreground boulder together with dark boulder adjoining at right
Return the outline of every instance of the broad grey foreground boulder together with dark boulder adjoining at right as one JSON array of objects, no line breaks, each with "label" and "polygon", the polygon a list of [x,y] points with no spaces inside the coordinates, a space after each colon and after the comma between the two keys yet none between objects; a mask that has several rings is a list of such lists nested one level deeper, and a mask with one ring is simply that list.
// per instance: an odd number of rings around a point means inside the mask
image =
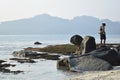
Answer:
[{"label": "broad grey foreground boulder together with dark boulder adjoining at right", "polygon": [[58,69],[70,71],[111,70],[120,65],[120,54],[115,50],[99,48],[83,55],[75,55],[57,62]]}]

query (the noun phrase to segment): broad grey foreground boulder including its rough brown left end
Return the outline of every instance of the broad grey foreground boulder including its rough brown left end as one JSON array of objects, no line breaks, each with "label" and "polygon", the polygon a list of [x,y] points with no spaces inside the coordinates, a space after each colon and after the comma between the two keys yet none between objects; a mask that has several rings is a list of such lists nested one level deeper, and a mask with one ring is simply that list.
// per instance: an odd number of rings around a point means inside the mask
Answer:
[{"label": "broad grey foreground boulder including its rough brown left end", "polygon": [[96,58],[92,55],[85,55],[80,57],[68,58],[59,60],[57,62],[58,69],[67,69],[70,71],[98,71],[98,70],[110,70],[111,64],[102,59]]}]

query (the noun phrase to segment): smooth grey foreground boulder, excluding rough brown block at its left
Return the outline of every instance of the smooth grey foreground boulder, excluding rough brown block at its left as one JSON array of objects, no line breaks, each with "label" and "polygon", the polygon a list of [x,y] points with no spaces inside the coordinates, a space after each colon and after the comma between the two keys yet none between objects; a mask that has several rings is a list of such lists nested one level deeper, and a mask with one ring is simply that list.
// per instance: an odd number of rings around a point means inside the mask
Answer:
[{"label": "smooth grey foreground boulder, excluding rough brown block at its left", "polygon": [[80,58],[70,59],[71,71],[98,71],[111,70],[112,65],[107,61],[96,58],[92,55],[82,56]]}]

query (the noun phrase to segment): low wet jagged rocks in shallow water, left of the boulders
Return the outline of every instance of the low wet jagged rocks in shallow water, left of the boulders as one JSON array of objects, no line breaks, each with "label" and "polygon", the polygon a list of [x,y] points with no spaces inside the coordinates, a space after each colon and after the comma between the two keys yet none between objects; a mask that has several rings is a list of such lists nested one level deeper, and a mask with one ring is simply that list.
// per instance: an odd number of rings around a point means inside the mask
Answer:
[{"label": "low wet jagged rocks in shallow water, left of the boulders", "polygon": [[[29,50],[21,50],[13,52],[14,58],[9,58],[10,61],[16,61],[17,63],[36,63],[35,59],[47,59],[47,60],[59,60],[60,55],[58,54],[49,54],[49,53],[38,53]],[[24,73],[24,71],[16,70],[12,71],[10,67],[16,67],[15,64],[9,64],[5,60],[0,60],[0,72],[2,73],[12,73],[19,74]]]}]

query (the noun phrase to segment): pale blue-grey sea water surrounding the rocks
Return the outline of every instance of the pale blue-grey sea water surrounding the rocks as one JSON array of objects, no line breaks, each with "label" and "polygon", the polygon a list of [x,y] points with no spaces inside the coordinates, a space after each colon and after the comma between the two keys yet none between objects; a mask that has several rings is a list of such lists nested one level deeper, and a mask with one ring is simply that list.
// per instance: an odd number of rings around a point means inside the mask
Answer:
[{"label": "pale blue-grey sea water surrounding the rocks", "polygon": [[[37,63],[17,63],[9,60],[14,58],[12,53],[20,51],[27,47],[45,47],[48,45],[70,44],[70,38],[73,34],[64,35],[0,35],[0,60],[6,63],[15,64],[15,67],[9,67],[12,71],[24,71],[20,74],[0,72],[0,80],[64,80],[81,73],[58,70],[57,61],[35,59]],[[85,37],[86,35],[81,35]],[[99,35],[92,34],[96,43],[99,43]],[[42,45],[34,45],[34,42],[41,42]],[[120,43],[120,35],[107,35],[107,43]]]}]

